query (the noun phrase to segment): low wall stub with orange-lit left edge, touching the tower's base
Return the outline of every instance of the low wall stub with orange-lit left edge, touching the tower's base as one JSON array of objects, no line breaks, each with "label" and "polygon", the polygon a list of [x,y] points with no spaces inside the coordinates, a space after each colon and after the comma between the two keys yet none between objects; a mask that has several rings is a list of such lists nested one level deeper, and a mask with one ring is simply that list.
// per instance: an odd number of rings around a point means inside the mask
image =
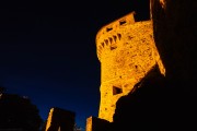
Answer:
[{"label": "low wall stub with orange-lit left edge, touching the tower's base", "polygon": [[89,117],[86,119],[85,131],[111,131],[111,123],[107,120],[97,117]]}]

